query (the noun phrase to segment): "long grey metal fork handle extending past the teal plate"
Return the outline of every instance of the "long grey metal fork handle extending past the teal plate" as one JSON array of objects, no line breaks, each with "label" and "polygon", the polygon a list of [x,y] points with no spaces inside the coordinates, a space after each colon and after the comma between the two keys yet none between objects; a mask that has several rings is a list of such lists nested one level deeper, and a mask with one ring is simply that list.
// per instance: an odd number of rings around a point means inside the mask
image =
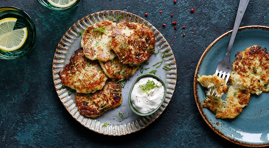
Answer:
[{"label": "long grey metal fork handle extending past the teal plate", "polygon": [[248,6],[249,2],[250,2],[250,0],[240,0],[240,2],[239,2],[236,19],[235,19],[234,26],[233,26],[233,32],[232,32],[231,39],[230,39],[230,42],[228,45],[228,49],[227,49],[227,52],[225,55],[226,58],[230,58],[230,54],[232,51],[233,42],[234,42],[237,30],[239,28],[239,25],[241,23],[241,20],[244,16],[244,13],[246,11],[246,7]]}]

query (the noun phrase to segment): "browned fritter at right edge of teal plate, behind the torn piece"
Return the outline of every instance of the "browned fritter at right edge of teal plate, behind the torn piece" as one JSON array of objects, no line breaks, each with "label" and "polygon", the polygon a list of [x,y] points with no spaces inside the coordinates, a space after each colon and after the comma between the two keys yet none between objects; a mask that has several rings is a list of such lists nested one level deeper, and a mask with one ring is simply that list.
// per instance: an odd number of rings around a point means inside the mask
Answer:
[{"label": "browned fritter at right edge of teal plate, behind the torn piece", "polygon": [[257,45],[246,48],[246,51],[238,52],[233,63],[234,75],[240,75],[250,93],[260,95],[263,91],[269,91],[269,55],[266,48],[261,49]]}]

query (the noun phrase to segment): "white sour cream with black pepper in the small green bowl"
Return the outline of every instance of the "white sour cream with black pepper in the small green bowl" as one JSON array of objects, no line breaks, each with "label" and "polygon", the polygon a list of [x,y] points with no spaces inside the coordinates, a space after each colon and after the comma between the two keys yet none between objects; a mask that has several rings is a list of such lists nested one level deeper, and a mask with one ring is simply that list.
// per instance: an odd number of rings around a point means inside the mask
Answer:
[{"label": "white sour cream with black pepper in the small green bowl", "polygon": [[[153,88],[147,93],[142,90],[139,85],[146,85],[147,81],[154,81],[155,85],[161,85],[160,88]],[[149,113],[156,109],[164,97],[164,86],[163,84],[152,77],[143,77],[136,82],[133,91],[131,92],[131,102],[134,108],[140,113]]]}]

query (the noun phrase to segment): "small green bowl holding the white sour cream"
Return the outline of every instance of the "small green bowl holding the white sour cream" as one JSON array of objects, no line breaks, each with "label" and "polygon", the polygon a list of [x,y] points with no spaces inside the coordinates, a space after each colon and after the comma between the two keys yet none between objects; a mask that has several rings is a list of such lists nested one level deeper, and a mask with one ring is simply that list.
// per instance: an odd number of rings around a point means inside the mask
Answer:
[{"label": "small green bowl holding the white sour cream", "polygon": [[[132,94],[132,91],[133,91],[133,89],[134,89],[134,87],[135,87],[136,82],[137,82],[139,79],[141,79],[141,78],[143,78],[143,77],[145,77],[145,76],[149,76],[149,77],[155,78],[155,79],[159,80],[159,81],[163,84],[163,86],[164,86],[164,96],[163,96],[163,99],[162,99],[161,103],[158,105],[158,107],[157,107],[156,109],[154,109],[154,110],[152,110],[151,112],[148,112],[148,113],[141,113],[141,112],[137,111],[137,110],[135,109],[135,107],[133,106],[132,101],[131,101],[131,94]],[[155,113],[155,112],[162,106],[162,104],[164,103],[164,99],[165,99],[165,97],[166,97],[166,91],[167,91],[167,90],[166,90],[166,84],[165,84],[164,80],[162,80],[159,76],[156,76],[156,75],[154,75],[154,74],[151,74],[151,73],[144,73],[144,74],[138,76],[138,77],[135,79],[134,83],[132,84],[131,90],[130,90],[130,92],[129,92],[129,99],[128,99],[129,106],[130,106],[131,110],[132,110],[135,114],[137,114],[137,115],[139,115],[139,116],[149,116],[149,115]]]}]

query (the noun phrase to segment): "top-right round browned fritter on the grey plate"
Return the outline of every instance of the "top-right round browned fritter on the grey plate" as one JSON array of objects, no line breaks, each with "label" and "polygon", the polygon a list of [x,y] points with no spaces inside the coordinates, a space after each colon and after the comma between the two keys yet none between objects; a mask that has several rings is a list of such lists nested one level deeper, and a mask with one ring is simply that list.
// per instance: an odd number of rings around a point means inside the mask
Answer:
[{"label": "top-right round browned fritter on the grey plate", "polygon": [[155,37],[144,24],[121,22],[112,31],[111,47],[121,64],[139,65],[147,61],[155,49]]}]

